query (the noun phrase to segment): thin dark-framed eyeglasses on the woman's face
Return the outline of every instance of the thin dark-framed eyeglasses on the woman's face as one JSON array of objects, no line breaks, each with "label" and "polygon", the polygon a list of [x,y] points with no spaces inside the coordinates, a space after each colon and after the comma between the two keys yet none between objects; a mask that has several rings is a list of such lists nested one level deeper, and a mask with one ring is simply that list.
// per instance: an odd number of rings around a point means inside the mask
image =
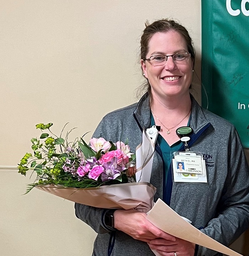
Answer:
[{"label": "thin dark-framed eyeglasses on the woman's face", "polygon": [[153,55],[145,60],[150,61],[153,66],[161,66],[166,63],[168,57],[172,57],[175,63],[180,63],[188,60],[188,58],[191,57],[191,54],[189,52],[178,52],[173,55]]}]

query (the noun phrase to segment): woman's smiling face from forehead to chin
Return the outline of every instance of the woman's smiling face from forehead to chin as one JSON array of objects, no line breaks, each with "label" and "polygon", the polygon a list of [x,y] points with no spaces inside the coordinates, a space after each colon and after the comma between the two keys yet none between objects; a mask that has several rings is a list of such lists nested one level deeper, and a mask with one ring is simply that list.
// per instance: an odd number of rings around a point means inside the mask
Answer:
[{"label": "woman's smiling face from forehead to chin", "polygon": [[[188,52],[184,37],[176,31],[158,32],[149,41],[146,58],[153,55],[173,55]],[[188,93],[192,82],[193,62],[189,57],[175,63],[172,57],[164,65],[153,66],[150,61],[141,61],[144,76],[148,79],[152,97],[183,96]]]}]

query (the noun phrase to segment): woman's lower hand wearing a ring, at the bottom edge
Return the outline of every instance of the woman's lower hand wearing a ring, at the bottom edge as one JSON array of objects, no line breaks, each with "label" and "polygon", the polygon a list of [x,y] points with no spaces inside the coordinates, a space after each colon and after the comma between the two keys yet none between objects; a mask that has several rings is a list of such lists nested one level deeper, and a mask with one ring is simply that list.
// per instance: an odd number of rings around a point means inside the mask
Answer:
[{"label": "woman's lower hand wearing a ring, at the bottom edge", "polygon": [[157,238],[148,242],[150,249],[157,250],[162,256],[194,256],[195,244],[175,237],[175,241]]}]

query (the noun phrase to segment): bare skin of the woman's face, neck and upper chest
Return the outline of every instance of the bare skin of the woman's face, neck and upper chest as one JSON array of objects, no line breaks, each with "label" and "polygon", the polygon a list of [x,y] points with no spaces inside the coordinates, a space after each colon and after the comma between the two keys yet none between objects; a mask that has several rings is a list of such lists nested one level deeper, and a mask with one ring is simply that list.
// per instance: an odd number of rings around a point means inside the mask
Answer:
[{"label": "bare skin of the woman's face, neck and upper chest", "polygon": [[[149,57],[161,58],[159,54],[162,53],[164,56],[168,55],[163,62],[157,62],[157,59]],[[184,57],[185,55],[186,57]],[[186,114],[191,108],[189,87],[193,73],[193,60],[190,56],[184,37],[179,32],[168,31],[166,33],[158,32],[152,36],[147,53],[147,57],[152,58],[152,60],[141,60],[144,76],[151,86],[152,112],[158,117],[157,119],[160,120],[161,124],[166,124],[167,127],[174,127],[174,124],[177,123],[180,126],[186,126],[188,122]],[[162,107],[168,108],[169,104],[178,105],[178,109],[182,104],[181,113],[178,113],[172,120],[166,118],[161,112]],[[171,133],[169,137],[166,130],[161,131],[161,135],[170,144],[179,140],[175,133]]]}]

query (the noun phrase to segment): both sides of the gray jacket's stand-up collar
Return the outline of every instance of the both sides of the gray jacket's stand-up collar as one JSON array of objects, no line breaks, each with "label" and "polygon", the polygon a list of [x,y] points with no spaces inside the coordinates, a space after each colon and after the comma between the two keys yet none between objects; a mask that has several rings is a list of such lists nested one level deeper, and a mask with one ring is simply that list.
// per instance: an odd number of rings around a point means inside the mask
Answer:
[{"label": "both sides of the gray jacket's stand-up collar", "polygon": [[[191,98],[191,122],[190,127],[194,133],[198,133],[209,122],[207,121],[202,107],[198,104],[195,98],[190,94]],[[137,108],[133,112],[135,119],[137,120],[141,129],[147,129],[150,127],[150,100],[148,92],[145,93],[137,104]]]}]

